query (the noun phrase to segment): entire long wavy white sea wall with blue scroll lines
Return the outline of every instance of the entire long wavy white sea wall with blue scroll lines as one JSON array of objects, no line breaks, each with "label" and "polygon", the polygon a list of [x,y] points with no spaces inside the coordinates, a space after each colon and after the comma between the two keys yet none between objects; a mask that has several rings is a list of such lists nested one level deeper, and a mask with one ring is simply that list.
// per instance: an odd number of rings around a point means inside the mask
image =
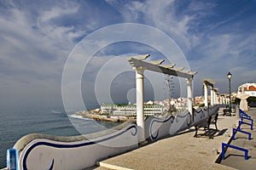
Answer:
[{"label": "entire long wavy white sea wall with blue scroll lines", "polygon": [[[145,121],[146,139],[156,141],[177,134],[208,116],[218,113],[220,105],[189,111],[160,119],[148,116]],[[194,122],[193,122],[194,120]],[[85,169],[109,156],[115,156],[138,147],[137,125],[131,121],[99,133],[73,137],[29,134],[19,139],[17,150],[19,169]],[[9,156],[8,160],[13,158]]]}]

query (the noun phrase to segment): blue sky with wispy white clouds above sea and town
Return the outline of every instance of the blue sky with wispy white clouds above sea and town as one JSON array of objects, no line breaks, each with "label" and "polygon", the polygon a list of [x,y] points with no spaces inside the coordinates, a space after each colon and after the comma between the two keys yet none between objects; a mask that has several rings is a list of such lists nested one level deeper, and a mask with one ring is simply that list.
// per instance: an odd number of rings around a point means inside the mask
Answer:
[{"label": "blue sky with wispy white clouds above sea and town", "polygon": [[[253,0],[0,0],[0,105],[135,102],[126,58],[140,54],[198,71],[194,96],[202,78],[228,93],[228,71],[237,91],[256,82],[255,8]],[[172,83],[172,97],[186,96],[184,80]],[[166,99],[164,75],[145,71],[144,84],[145,100]]]}]

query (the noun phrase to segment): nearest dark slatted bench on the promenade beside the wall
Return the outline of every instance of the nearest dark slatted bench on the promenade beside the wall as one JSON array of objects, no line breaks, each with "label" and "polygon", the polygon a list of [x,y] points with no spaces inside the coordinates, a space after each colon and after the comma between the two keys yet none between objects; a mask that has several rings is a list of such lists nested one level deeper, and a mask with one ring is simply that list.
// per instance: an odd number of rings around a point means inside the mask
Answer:
[{"label": "nearest dark slatted bench on the promenade beside the wall", "polygon": [[[213,139],[213,135],[216,132],[218,132],[217,120],[218,120],[218,113],[216,115],[209,116],[207,119],[201,120],[200,122],[196,122],[194,124],[194,127],[195,127],[194,137],[197,138],[198,135],[200,135],[200,136],[208,136],[210,139]],[[211,123],[215,125],[215,129],[210,128]],[[205,133],[198,134],[199,128],[204,128]]]}]

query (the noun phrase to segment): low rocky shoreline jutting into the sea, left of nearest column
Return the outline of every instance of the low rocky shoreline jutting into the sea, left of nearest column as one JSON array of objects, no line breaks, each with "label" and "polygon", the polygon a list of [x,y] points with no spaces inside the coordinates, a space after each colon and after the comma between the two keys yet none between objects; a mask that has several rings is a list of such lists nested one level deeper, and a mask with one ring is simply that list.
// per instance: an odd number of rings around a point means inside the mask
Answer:
[{"label": "low rocky shoreline jutting into the sea, left of nearest column", "polygon": [[77,116],[78,118],[93,119],[102,122],[126,122],[130,120],[136,122],[136,117],[102,115],[100,109],[94,109],[90,111],[79,111],[76,112],[74,116]]}]

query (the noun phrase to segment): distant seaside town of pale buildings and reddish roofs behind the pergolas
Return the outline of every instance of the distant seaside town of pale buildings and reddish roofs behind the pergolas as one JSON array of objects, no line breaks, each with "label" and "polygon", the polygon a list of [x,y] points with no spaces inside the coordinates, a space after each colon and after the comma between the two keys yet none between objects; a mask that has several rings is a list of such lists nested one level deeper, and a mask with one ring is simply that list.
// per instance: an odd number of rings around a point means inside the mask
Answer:
[{"label": "distant seaside town of pale buildings and reddish roofs behind the pergolas", "polygon": [[[256,97],[256,83],[245,83],[238,87],[237,92],[231,94],[231,101],[238,105],[239,99],[237,95],[248,94]],[[229,94],[217,94],[215,104],[227,105],[230,103]],[[210,100],[211,96],[208,96]],[[162,101],[147,101],[144,103],[144,115],[147,116],[165,116],[166,114],[177,115],[183,113],[187,108],[187,99],[180,97],[177,99],[165,99]],[[253,103],[254,104],[254,103]],[[193,107],[198,109],[204,107],[204,97],[195,96],[193,99]],[[98,121],[108,122],[125,122],[127,120],[136,120],[137,105],[136,104],[102,104],[100,108],[90,111],[79,111],[76,116],[91,118]]]}]

